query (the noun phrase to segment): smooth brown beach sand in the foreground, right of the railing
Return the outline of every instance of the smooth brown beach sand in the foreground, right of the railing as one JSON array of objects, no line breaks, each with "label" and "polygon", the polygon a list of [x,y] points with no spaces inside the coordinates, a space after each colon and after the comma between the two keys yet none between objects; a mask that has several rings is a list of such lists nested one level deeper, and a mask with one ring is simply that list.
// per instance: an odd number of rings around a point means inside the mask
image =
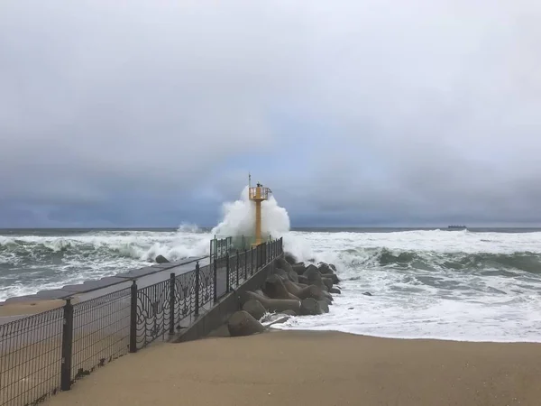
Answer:
[{"label": "smooth brown beach sand in the foreground, right of the railing", "polygon": [[126,355],[48,406],[538,406],[541,345],[276,331]]}]

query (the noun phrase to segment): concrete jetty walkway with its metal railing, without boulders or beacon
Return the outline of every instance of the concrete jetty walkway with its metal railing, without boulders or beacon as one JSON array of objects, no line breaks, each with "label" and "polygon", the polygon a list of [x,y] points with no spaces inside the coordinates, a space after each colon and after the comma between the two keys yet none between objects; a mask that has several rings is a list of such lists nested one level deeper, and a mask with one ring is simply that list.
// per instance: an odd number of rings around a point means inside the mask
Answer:
[{"label": "concrete jetty walkway with its metal railing, without boulders or beacon", "polygon": [[223,325],[238,308],[238,292],[264,281],[283,256],[281,238],[244,249],[231,243],[215,239],[211,245],[220,249],[203,258],[6,300],[6,307],[62,304],[2,320],[0,405],[38,404],[120,356],[157,341],[204,337]]}]

